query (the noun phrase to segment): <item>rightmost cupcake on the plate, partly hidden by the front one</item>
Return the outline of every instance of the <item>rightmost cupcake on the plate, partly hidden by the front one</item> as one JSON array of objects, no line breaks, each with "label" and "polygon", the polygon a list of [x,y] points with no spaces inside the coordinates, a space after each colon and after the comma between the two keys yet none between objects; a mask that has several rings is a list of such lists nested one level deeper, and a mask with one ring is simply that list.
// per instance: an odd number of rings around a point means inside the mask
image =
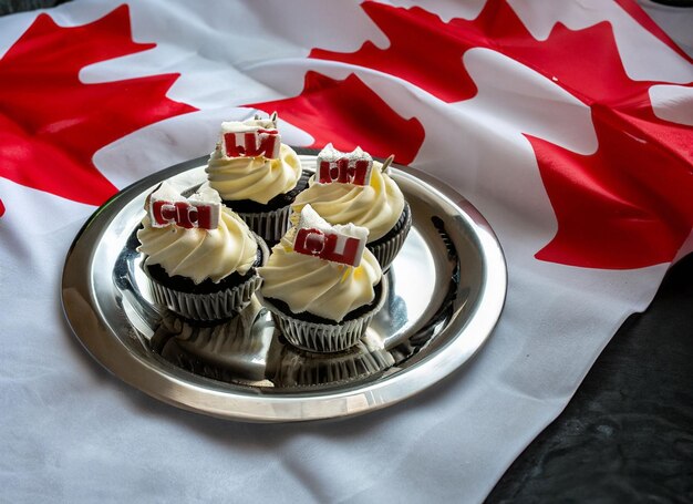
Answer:
[{"label": "rightmost cupcake on the plate, partly hidden by the front one", "polygon": [[296,214],[310,204],[330,224],[352,223],[369,230],[366,247],[383,271],[390,268],[412,227],[412,213],[385,163],[356,147],[342,153],[328,144],[318,154],[316,175],[293,205]]}]

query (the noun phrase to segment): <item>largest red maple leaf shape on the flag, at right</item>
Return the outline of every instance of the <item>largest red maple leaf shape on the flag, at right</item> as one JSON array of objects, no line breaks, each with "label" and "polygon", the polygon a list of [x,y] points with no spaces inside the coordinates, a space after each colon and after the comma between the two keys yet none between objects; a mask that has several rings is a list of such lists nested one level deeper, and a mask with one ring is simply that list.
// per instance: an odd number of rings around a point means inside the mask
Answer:
[{"label": "largest red maple leaf shape on the flag, at right", "polygon": [[[620,4],[652,30],[637,6]],[[558,220],[556,237],[537,258],[592,268],[674,258],[693,223],[693,130],[654,115],[648,90],[658,83],[628,78],[608,23],[578,31],[557,24],[548,40],[538,41],[500,0],[488,1],[470,21],[443,22],[421,8],[370,1],[362,9],[387,35],[386,49],[366,41],[352,53],[313,49],[310,55],[386,72],[458,102],[477,92],[463,54],[487,48],[556,80],[591,106],[599,143],[592,155],[526,135]],[[661,30],[654,32],[674,47]]]}]

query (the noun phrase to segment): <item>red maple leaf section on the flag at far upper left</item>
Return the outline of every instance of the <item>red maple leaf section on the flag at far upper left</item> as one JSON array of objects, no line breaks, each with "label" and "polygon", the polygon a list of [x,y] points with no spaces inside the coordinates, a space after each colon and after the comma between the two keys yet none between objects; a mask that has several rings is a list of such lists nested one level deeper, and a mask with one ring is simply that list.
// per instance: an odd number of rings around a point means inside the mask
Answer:
[{"label": "red maple leaf section on the flag at far upper left", "polygon": [[0,176],[90,205],[112,196],[116,188],[94,166],[94,153],[196,109],[166,97],[175,73],[84,84],[79,72],[153,47],[132,40],[127,6],[72,28],[37,17],[0,59]]}]

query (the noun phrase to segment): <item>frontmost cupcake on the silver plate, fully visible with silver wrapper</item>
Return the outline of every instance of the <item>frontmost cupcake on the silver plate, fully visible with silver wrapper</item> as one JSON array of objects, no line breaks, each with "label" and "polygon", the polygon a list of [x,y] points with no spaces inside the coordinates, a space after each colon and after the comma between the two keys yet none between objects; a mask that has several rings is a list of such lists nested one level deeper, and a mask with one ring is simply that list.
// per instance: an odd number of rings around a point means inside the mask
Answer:
[{"label": "frontmost cupcake on the silver plate, fully visible with silver wrapper", "polygon": [[386,298],[386,280],[365,248],[368,229],[331,226],[310,205],[259,268],[260,301],[293,346],[333,352],[359,342]]}]

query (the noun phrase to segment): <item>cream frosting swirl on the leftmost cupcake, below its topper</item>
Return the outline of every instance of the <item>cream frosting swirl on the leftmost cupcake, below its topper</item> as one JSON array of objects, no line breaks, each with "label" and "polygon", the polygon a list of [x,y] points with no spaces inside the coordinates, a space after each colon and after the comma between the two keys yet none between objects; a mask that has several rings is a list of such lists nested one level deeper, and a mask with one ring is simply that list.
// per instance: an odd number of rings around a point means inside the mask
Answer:
[{"label": "cream frosting swirl on the leftmost cupcake, below its topper", "polygon": [[137,250],[146,256],[145,265],[161,265],[172,277],[218,282],[236,271],[245,275],[257,258],[258,244],[248,225],[228,208],[221,208],[219,226],[211,230],[152,227],[148,215],[142,224]]}]

